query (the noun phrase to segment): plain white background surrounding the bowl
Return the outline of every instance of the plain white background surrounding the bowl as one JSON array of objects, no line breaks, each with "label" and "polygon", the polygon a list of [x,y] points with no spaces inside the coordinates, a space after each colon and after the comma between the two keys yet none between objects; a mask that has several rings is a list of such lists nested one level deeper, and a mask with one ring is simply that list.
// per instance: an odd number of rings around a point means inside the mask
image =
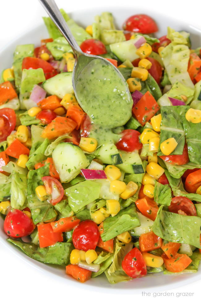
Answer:
[{"label": "plain white background surrounding the bowl", "polygon": [[[200,24],[200,1],[185,0],[141,0],[141,1],[114,1],[114,0],[85,0],[85,1],[66,1],[57,0],[58,6],[63,7],[67,12],[76,9],[86,9],[88,7],[107,7],[107,6],[126,6],[133,5],[133,11],[130,15],[135,14],[135,7],[150,7],[158,13],[167,13],[168,15],[179,20],[187,20],[189,24],[201,28]],[[5,44],[13,41],[22,32],[42,22],[41,16],[46,15],[43,8],[37,0],[1,0],[0,6],[0,48]],[[129,17],[129,16],[128,16]],[[170,24],[171,26],[171,24]],[[1,67],[1,62],[0,62]],[[162,278],[162,276],[161,276]],[[154,282],[154,278],[153,278]],[[78,284],[79,285],[79,284]],[[156,285],[156,284],[155,284]],[[152,300],[180,300],[189,301],[192,297],[177,298],[176,293],[194,292],[193,298],[200,300],[200,281],[194,282],[185,287],[174,289],[171,297],[153,297],[152,295],[144,298],[142,295],[122,295],[105,294],[87,290],[80,291],[79,288],[69,287],[67,284],[60,283],[52,275],[43,274],[25,262],[19,260],[15,254],[11,253],[6,247],[0,245],[0,289],[1,301],[152,301]],[[4,299],[3,299],[4,298]]]}]

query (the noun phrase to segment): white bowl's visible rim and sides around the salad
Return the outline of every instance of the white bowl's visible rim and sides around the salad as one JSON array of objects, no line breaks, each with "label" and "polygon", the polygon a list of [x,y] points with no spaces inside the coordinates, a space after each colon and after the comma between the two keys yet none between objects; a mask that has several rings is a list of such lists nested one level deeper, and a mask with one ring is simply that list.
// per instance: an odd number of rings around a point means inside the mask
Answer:
[{"label": "white bowl's visible rim and sides around the salad", "polygon": [[[70,16],[80,25],[86,27],[88,24],[92,24],[94,20],[94,16],[100,14],[103,11],[110,11],[113,13],[115,18],[115,23],[119,28],[122,27],[123,22],[130,16],[137,13],[145,13],[152,16],[158,26],[159,32],[157,33],[157,37],[161,37],[166,34],[167,26],[174,28],[175,30],[186,30],[191,34],[191,42],[193,48],[201,46],[201,30],[191,26],[185,22],[181,23],[177,20],[173,20],[171,17],[166,15],[157,15],[154,11],[150,11],[142,8],[140,11],[135,10],[134,7],[101,7],[95,9],[87,9],[86,11],[75,11],[70,14]],[[36,26],[31,31],[24,33],[20,37],[18,37],[15,41],[6,46],[3,50],[0,51],[0,62],[1,62],[1,70],[4,68],[8,68],[12,64],[13,60],[13,52],[15,50],[16,45],[18,44],[28,44],[34,43],[35,46],[40,45],[40,40],[42,38],[49,37],[45,25],[41,23],[41,25]],[[65,268],[61,268],[55,265],[45,265],[41,262],[33,260],[25,255],[19,248],[15,247],[11,243],[6,241],[7,236],[3,231],[3,220],[0,217],[0,242],[6,247],[8,247],[12,252],[16,254],[21,260],[24,260],[29,265],[32,265],[36,269],[40,270],[44,274],[52,274],[52,277],[60,278],[60,281],[64,281],[69,286],[78,286],[79,289],[86,288],[91,291],[101,291],[112,293],[113,290],[115,293],[129,293],[132,292],[139,293],[142,291],[165,291],[167,289],[173,289],[175,287],[184,286],[190,284],[194,281],[201,279],[201,267],[198,272],[195,274],[181,274],[181,275],[163,275],[162,273],[150,274],[144,278],[133,279],[128,282],[121,282],[117,284],[110,284],[105,275],[99,276],[97,278],[93,278],[88,280],[86,283],[82,284],[71,278],[70,276],[65,274]],[[16,257],[16,261],[19,259]],[[125,291],[124,291],[125,290]]]}]

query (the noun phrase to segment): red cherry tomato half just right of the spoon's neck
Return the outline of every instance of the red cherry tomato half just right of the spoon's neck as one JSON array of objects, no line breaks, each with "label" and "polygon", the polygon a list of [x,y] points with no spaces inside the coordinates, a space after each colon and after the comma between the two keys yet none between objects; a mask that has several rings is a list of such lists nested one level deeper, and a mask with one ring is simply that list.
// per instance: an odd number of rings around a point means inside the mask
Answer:
[{"label": "red cherry tomato half just right of the spoon's neck", "polygon": [[83,52],[90,55],[103,55],[107,53],[105,45],[97,39],[88,39],[82,42],[80,48]]}]

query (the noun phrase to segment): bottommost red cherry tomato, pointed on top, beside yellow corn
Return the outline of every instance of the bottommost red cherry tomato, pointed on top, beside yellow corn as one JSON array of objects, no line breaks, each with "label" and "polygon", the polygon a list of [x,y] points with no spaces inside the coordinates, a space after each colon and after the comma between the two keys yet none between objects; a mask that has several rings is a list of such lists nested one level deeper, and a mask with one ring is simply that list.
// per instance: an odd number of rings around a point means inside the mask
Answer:
[{"label": "bottommost red cherry tomato, pointed on top, beside yellow corn", "polygon": [[147,267],[144,258],[137,247],[134,247],[124,257],[122,269],[131,278],[144,277],[147,274]]}]

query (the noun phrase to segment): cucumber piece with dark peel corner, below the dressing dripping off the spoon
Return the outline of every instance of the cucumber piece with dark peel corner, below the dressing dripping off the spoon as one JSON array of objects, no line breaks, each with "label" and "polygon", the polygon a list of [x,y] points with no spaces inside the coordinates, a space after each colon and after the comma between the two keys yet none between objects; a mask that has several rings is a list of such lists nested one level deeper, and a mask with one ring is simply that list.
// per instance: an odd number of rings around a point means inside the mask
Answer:
[{"label": "cucumber piece with dark peel corner, below the dressing dripping off the spoon", "polygon": [[104,164],[117,165],[123,163],[117,147],[112,142],[101,146],[97,157],[98,159],[102,160]]}]

